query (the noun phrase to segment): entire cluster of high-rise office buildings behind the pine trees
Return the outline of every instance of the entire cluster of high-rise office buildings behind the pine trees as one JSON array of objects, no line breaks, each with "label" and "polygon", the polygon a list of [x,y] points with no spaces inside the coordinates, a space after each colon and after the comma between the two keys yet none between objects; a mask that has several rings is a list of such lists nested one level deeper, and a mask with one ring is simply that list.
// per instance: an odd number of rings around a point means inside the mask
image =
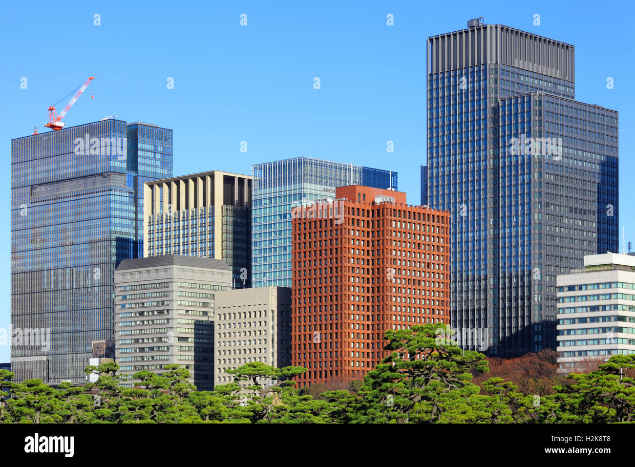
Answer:
[{"label": "entire cluster of high-rise office buildings behind the pine trees", "polygon": [[79,384],[105,358],[130,386],[173,363],[211,389],[251,362],[329,385],[425,323],[488,355],[557,349],[563,371],[635,352],[618,115],[575,100],[574,58],[479,20],[429,37],[420,205],[391,167],[304,156],[175,177],[148,123],[11,140],[15,379]]}]

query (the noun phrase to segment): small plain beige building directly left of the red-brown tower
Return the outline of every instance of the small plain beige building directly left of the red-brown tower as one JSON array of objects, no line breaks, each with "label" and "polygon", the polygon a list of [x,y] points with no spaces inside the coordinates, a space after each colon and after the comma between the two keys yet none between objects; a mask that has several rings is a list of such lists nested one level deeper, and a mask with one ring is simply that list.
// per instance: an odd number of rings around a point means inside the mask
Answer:
[{"label": "small plain beige building directly left of the red-brown tower", "polygon": [[217,292],[215,308],[216,384],[233,382],[234,376],[227,370],[247,363],[262,362],[276,368],[291,365],[290,288]]}]

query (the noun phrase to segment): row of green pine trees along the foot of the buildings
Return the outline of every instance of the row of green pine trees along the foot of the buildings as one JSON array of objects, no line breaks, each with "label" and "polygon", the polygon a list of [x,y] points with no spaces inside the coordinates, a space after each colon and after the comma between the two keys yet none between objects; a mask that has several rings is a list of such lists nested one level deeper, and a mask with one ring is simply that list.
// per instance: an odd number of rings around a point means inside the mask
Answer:
[{"label": "row of green pine trees along the foot of the buildings", "polygon": [[[391,355],[344,388],[296,388],[302,367],[252,362],[234,382],[196,391],[189,371],[165,365],[137,372],[121,386],[119,365],[86,368],[96,382],[51,388],[41,379],[13,382],[0,370],[0,423],[630,423],[635,421],[635,355],[613,355],[597,369],[556,376],[555,353],[516,363],[439,344],[438,325],[389,330]],[[549,360],[552,361],[549,361]],[[501,367],[509,368],[503,371]],[[511,365],[511,366],[510,366]],[[516,366],[514,366],[516,365]],[[551,366],[550,366],[551,365]],[[512,370],[510,370],[510,368]],[[487,377],[490,374],[490,377]],[[271,386],[260,379],[274,381]]]}]

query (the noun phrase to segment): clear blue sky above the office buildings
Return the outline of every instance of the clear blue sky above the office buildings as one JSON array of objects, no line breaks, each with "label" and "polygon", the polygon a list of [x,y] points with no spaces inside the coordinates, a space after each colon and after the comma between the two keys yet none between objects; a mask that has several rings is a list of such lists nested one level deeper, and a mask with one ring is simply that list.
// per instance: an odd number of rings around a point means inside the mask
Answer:
[{"label": "clear blue sky above the office buildings", "polygon": [[[0,158],[6,181],[0,328],[10,325],[10,140],[95,76],[64,121],[118,114],[174,130],[174,175],[313,156],[399,172],[419,203],[425,41],[485,17],[575,45],[575,97],[620,112],[620,248],[635,240],[632,3],[112,1],[3,4]],[[100,26],[93,15],[100,15]],[[240,15],[247,15],[241,26]],[[394,15],[394,26],[386,15]],[[535,13],[540,25],[533,25]],[[319,77],[321,89],[313,88]],[[615,87],[606,89],[606,78]],[[20,89],[27,78],[27,89]],[[168,90],[168,78],[174,89]],[[62,104],[64,105],[64,104]],[[248,152],[240,152],[246,140]],[[386,142],[394,142],[394,153]],[[9,348],[0,346],[0,362]]]}]

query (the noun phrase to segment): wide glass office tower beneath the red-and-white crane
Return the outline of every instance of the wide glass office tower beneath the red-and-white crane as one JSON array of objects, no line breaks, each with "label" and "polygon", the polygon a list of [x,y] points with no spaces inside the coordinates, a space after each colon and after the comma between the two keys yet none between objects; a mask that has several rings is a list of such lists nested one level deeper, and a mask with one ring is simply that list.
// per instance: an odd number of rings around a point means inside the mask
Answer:
[{"label": "wide glass office tower beneath the red-and-white crane", "polygon": [[11,140],[11,326],[51,337],[13,342],[18,381],[84,382],[91,342],[113,337],[114,269],[137,250],[134,180],[145,165],[127,133],[109,119]]}]

